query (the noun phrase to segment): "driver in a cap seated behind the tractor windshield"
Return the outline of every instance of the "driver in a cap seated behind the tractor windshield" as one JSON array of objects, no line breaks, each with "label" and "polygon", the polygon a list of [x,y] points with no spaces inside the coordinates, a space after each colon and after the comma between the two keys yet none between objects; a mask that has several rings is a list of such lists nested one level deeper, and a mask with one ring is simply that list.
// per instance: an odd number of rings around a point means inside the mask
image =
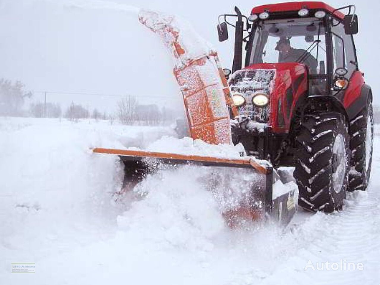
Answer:
[{"label": "driver in a cap seated behind the tractor windshield", "polygon": [[311,74],[317,73],[317,60],[304,49],[293,49],[286,37],[277,41],[275,51],[279,52],[279,62],[299,62],[309,67]]}]

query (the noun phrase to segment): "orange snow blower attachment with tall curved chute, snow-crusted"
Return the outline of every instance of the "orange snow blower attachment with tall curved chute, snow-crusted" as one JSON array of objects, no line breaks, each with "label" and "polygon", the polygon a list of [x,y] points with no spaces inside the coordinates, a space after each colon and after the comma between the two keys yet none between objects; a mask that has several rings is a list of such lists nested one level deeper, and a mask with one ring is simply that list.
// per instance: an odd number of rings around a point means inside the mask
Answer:
[{"label": "orange snow blower attachment with tall curved chute, snow-crusted", "polygon": [[[160,36],[174,58],[174,76],[182,91],[192,138],[215,145],[232,144],[230,117],[238,114],[217,53],[174,16],[141,10],[139,21]],[[217,158],[103,148],[93,152],[119,155],[125,164],[123,189],[135,187],[148,173],[168,165],[209,169],[204,170],[210,173],[206,178],[208,189],[222,186],[226,192],[239,192],[236,201],[222,209],[231,227],[246,221],[261,223],[270,217],[288,223],[296,211],[294,187],[282,185],[274,191],[272,185],[279,177],[268,162],[253,157]]]}]

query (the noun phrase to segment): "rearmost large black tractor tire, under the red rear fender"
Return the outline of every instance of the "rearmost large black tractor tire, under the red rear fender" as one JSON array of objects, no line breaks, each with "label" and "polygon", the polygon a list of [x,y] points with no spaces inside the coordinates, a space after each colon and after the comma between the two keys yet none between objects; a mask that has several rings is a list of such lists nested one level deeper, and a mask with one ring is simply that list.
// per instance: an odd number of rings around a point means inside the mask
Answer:
[{"label": "rearmost large black tractor tire, under the red rear fender", "polygon": [[374,117],[370,99],[350,122],[351,171],[349,191],[367,190],[372,166]]}]

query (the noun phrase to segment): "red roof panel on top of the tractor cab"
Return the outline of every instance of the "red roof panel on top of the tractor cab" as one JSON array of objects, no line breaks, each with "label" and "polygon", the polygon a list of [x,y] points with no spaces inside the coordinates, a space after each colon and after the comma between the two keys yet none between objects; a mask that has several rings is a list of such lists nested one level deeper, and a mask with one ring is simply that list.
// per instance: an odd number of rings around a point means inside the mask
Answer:
[{"label": "red roof panel on top of the tractor cab", "polygon": [[[287,3],[277,3],[277,4],[268,4],[257,6],[252,9],[251,14],[260,14],[264,11],[271,12],[284,12],[284,11],[298,11],[303,8],[306,9],[321,9],[329,13],[332,13],[335,9],[330,5],[327,5],[323,2],[287,2]],[[344,18],[344,14],[340,11],[336,11],[334,16],[337,16],[340,19]]]}]

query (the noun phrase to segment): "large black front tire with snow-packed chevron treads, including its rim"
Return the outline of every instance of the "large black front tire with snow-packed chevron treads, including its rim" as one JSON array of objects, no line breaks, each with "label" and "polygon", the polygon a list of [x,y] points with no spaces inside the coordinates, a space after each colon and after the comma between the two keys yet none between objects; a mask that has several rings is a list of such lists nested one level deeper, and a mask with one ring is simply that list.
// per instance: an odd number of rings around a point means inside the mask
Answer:
[{"label": "large black front tire with snow-packed chevron treads, including its rim", "polygon": [[341,209],[350,161],[345,117],[338,112],[307,114],[296,145],[294,178],[299,205],[309,211]]}]

